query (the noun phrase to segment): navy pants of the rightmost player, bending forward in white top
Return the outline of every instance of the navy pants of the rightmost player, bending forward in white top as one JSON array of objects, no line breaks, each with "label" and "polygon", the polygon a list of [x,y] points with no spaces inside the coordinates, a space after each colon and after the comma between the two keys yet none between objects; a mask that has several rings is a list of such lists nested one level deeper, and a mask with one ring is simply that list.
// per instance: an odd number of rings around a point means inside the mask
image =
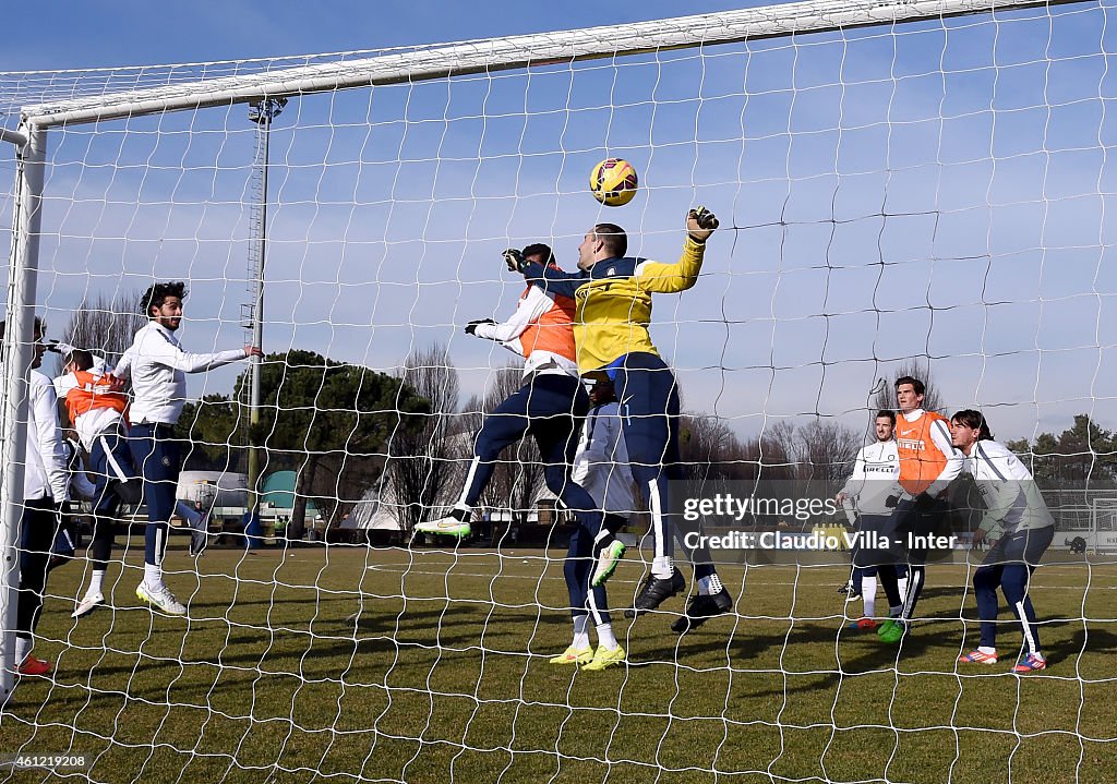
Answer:
[{"label": "navy pants of the rightmost player, bending forward in white top", "polygon": [[1054,526],[1009,534],[997,541],[974,572],[982,646],[996,648],[996,614],[1000,611],[996,587],[1000,585],[1012,614],[1020,621],[1028,653],[1040,652],[1040,629],[1028,583],[1053,537]]}]

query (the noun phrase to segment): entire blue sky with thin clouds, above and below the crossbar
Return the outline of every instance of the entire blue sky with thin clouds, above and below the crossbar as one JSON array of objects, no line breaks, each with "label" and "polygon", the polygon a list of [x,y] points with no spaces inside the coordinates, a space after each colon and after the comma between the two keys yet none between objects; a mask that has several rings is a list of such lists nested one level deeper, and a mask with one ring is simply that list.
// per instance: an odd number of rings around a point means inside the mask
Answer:
[{"label": "entire blue sky with thin clouds, above and below the crossbar", "polygon": [[[306,15],[268,3],[264,15],[241,2],[155,22],[146,6],[115,3],[109,23],[86,3],[57,8],[38,28],[49,36],[4,41],[0,70],[367,49],[679,12],[333,3]],[[657,303],[653,331],[689,408],[741,432],[814,414],[861,427],[875,380],[929,357],[947,404],[987,409],[1005,437],[1061,430],[1081,411],[1115,427],[1110,10],[296,98],[273,132],[265,347],[390,370],[410,347],[448,343],[467,392],[479,391],[513,358],[461,333],[514,306],[521,285],[500,249],[543,239],[572,265],[584,230],[612,220],[632,252],[670,260],[682,213],[705,202],[726,228],[699,285]],[[244,111],[52,132],[39,289],[52,323],[85,295],[187,277],[184,340],[237,345]],[[642,188],[605,210],[584,182],[614,154]],[[226,391],[231,375],[192,392]]]}]

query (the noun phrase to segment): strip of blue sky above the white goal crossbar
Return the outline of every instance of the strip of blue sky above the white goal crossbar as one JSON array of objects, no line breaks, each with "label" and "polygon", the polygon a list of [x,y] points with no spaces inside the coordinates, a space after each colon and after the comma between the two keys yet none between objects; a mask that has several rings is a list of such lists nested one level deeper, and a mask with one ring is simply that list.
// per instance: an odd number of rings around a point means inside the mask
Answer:
[{"label": "strip of blue sky above the white goal crossbar", "polygon": [[439,44],[614,25],[763,3],[748,0],[362,2],[60,0],[34,26],[6,25],[0,70],[206,63]]}]

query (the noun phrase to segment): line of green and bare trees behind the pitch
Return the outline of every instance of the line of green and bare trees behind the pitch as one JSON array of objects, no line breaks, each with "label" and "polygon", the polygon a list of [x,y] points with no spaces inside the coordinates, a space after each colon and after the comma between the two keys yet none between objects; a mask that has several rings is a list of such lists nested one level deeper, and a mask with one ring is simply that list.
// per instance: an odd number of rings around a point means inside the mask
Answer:
[{"label": "line of green and bare trees behind the pitch", "polygon": [[[137,297],[135,297],[137,298]],[[131,345],[145,319],[133,298],[99,297],[82,304],[64,329],[64,341],[114,358]],[[230,394],[188,402],[179,436],[189,441],[185,467],[242,472],[247,450],[261,450],[260,474],[296,475],[290,535],[305,528],[306,504],[340,517],[372,494],[386,504],[404,530],[432,509],[451,505],[461,491],[472,438],[485,412],[518,389],[521,369],[495,369],[483,395],[459,404],[460,379],[445,346],[413,351],[398,373],[337,362],[304,350],[264,357],[260,417],[248,422],[249,370]],[[872,440],[878,409],[896,410],[895,380],[925,381],[925,408],[939,410],[942,395],[926,364],[910,362],[881,379],[866,400],[867,424],[857,430],[833,418],[802,417],[765,424],[738,436],[718,417],[685,412],[679,451],[686,480],[703,484],[779,481],[840,487],[858,449]],[[805,423],[804,423],[805,420]],[[1117,476],[1117,434],[1089,415],[1056,436],[1009,441],[1037,479],[1057,486],[1091,481],[1111,486]],[[708,491],[709,488],[707,488]],[[543,466],[532,439],[502,456],[481,504],[510,509],[524,522],[543,493]]]}]

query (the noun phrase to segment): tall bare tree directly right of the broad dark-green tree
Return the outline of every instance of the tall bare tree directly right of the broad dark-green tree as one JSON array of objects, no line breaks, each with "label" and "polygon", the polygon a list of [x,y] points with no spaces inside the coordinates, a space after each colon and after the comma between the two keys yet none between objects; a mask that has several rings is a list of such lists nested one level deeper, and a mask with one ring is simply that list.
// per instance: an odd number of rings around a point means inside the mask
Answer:
[{"label": "tall bare tree directly right of the broad dark-green tree", "polygon": [[446,506],[458,490],[455,414],[460,382],[440,344],[412,352],[400,377],[430,401],[423,424],[398,430],[389,442],[388,490],[400,526],[409,532],[428,509]]}]

